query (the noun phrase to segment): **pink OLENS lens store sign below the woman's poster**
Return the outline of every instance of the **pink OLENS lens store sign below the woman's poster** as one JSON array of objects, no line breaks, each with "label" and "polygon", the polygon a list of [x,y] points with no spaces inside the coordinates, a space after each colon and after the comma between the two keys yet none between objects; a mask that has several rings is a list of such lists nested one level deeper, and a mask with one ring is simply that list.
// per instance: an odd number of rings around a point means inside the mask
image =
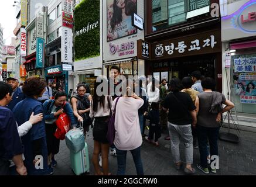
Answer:
[{"label": "pink OLENS lens store sign below the woman's poster", "polygon": [[118,56],[126,56],[130,54],[134,54],[134,47],[135,43],[134,41],[122,43],[122,44],[112,44],[110,43],[110,53],[114,55],[115,53],[118,53]]}]

